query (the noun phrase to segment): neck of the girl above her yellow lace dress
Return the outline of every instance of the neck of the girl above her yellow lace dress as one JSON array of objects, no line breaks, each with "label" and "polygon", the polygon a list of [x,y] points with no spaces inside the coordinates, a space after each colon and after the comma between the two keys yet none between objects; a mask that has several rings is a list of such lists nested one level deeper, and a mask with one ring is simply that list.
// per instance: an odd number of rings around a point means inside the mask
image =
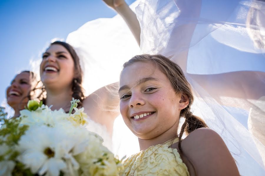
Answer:
[{"label": "neck of the girl above her yellow lace dress", "polygon": [[178,122],[176,122],[171,128],[169,128],[167,131],[165,131],[164,133],[160,134],[155,138],[152,139],[138,138],[140,150],[146,150],[150,146],[163,144],[169,141],[170,139],[175,138],[177,135],[177,131],[178,131]]}]

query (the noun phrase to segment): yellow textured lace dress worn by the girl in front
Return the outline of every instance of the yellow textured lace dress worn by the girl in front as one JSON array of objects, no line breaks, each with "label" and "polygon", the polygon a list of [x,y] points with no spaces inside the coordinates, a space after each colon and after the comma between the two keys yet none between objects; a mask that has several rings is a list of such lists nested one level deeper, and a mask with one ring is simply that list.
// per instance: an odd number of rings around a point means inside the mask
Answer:
[{"label": "yellow textured lace dress worn by the girl in front", "polygon": [[[175,139],[173,143],[177,142]],[[172,141],[151,146],[140,151],[123,162],[121,176],[176,175],[189,176],[188,168],[183,163],[178,150],[170,148]]]}]

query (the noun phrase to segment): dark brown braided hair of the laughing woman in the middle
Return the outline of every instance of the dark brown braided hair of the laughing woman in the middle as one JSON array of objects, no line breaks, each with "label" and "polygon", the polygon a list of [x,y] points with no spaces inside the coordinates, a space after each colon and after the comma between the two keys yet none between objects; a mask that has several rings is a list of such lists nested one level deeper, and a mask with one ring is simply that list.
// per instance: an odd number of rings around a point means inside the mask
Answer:
[{"label": "dark brown braided hair of the laughing woman in the middle", "polygon": [[[68,43],[61,42],[61,41],[55,41],[51,43],[50,46],[52,45],[62,45],[65,49],[67,49],[67,51],[70,53],[70,55],[73,58],[75,76],[74,76],[74,79],[72,80],[72,92],[73,92],[72,97],[74,97],[74,99],[79,99],[80,103],[78,103],[78,107],[82,107],[85,95],[84,95],[84,89],[82,87],[83,72],[80,67],[80,59],[77,56],[74,48]],[[42,88],[42,92],[46,92],[45,87]],[[43,99],[44,104],[45,104],[45,101],[46,99]]]}]

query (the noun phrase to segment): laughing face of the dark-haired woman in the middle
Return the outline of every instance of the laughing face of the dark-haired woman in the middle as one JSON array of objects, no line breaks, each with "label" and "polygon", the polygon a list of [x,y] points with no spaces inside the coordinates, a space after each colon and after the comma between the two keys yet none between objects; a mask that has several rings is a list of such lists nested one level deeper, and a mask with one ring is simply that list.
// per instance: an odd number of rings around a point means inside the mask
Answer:
[{"label": "laughing face of the dark-haired woman in the middle", "polygon": [[62,45],[51,45],[42,56],[40,76],[46,87],[67,87],[74,79],[74,60]]}]

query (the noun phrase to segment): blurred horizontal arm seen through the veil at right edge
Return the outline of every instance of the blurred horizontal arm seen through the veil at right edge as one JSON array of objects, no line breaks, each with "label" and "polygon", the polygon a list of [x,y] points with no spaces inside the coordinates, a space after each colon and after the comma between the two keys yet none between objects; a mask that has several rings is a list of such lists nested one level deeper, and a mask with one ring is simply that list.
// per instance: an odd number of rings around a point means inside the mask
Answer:
[{"label": "blurred horizontal arm seen through the veil at right edge", "polygon": [[265,95],[264,72],[239,71],[216,75],[189,74],[189,76],[218,103],[225,106],[249,110],[252,106],[249,100],[258,100]]}]

